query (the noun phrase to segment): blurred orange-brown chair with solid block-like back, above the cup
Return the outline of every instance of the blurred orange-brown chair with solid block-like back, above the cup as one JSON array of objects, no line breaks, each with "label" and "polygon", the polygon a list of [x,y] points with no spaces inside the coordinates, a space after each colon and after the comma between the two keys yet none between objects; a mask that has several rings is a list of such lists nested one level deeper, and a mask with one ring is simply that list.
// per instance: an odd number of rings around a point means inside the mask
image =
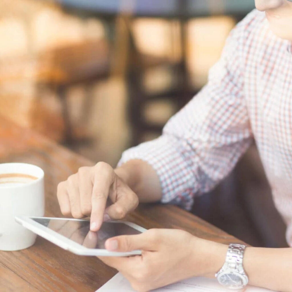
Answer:
[{"label": "blurred orange-brown chair with solid block-like back, above the cup", "polygon": [[[65,122],[65,141],[72,142],[74,131],[70,121],[66,93],[69,87],[82,84],[90,88],[95,82],[109,76],[109,48],[104,40],[84,41],[45,51],[39,56],[37,84],[57,92],[62,103]],[[87,91],[89,92],[89,90]],[[88,114],[92,97],[86,96],[84,115]],[[78,134],[79,131],[79,134]],[[75,135],[83,135],[85,129],[75,127]]]}]

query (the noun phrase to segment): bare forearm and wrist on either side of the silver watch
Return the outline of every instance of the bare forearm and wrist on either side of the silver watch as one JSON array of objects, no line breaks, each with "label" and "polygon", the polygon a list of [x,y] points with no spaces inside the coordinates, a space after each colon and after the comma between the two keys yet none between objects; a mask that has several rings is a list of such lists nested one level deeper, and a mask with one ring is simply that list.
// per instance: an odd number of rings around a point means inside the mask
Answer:
[{"label": "bare forearm and wrist on either side of the silver watch", "polygon": [[[210,245],[211,241],[208,242]],[[205,251],[207,266],[206,277],[215,277],[225,262],[227,245],[212,243]],[[281,292],[292,292],[292,248],[247,247],[244,253],[244,270],[248,284]]]}]

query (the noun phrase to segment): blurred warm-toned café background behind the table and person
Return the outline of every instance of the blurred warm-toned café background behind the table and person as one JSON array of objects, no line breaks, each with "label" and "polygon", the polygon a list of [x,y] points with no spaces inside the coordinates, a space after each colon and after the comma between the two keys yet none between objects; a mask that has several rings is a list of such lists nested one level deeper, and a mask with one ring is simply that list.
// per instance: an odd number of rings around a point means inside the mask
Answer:
[{"label": "blurred warm-toned caf\u00e9 background behind the table and person", "polygon": [[[254,0],[1,0],[0,114],[93,160],[160,135]],[[256,146],[192,212],[286,246]]]}]

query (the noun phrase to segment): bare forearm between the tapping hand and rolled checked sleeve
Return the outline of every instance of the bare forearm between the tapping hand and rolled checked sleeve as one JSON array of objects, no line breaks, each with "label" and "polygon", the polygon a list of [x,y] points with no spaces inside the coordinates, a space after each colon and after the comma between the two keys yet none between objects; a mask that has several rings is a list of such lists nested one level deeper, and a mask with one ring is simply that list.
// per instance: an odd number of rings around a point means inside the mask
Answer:
[{"label": "bare forearm between the tapping hand and rolled checked sleeve", "polygon": [[159,177],[150,164],[134,159],[115,169],[117,175],[137,194],[140,202],[160,201]]}]

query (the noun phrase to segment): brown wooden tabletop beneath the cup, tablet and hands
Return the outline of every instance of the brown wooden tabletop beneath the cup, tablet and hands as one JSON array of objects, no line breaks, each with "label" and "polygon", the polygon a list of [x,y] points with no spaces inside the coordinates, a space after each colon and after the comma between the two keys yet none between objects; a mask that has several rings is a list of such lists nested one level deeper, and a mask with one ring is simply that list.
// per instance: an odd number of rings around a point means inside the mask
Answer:
[{"label": "brown wooden tabletop beneath the cup, tablet and hands", "polygon": [[[32,163],[44,169],[45,215],[54,217],[61,216],[56,198],[57,184],[75,173],[80,166],[94,164],[0,117],[0,163],[6,162]],[[181,228],[213,241],[226,244],[240,242],[175,206],[142,205],[127,219],[147,229]],[[41,237],[31,248],[0,251],[0,292],[92,292],[116,272],[95,257],[74,255]]]}]

